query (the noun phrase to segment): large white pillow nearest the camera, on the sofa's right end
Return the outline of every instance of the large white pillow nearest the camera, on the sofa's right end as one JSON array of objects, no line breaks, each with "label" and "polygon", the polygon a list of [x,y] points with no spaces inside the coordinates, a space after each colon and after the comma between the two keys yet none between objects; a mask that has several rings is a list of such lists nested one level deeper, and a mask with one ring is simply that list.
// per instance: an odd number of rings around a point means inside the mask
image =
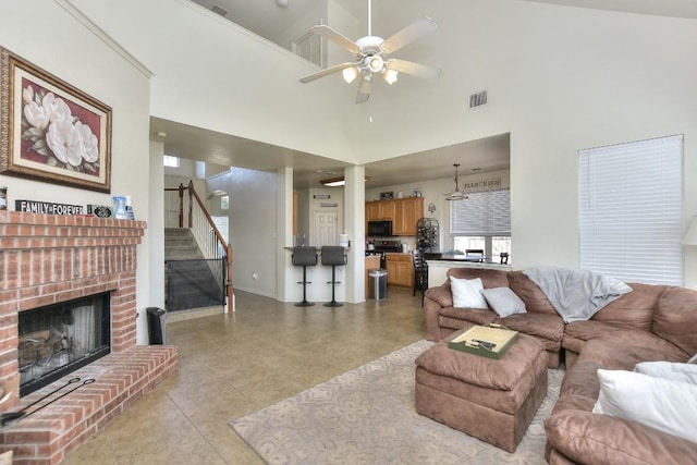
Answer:
[{"label": "large white pillow nearest the camera, on the sofa's right end", "polygon": [[596,414],[611,415],[697,442],[697,386],[639,372],[598,369]]}]

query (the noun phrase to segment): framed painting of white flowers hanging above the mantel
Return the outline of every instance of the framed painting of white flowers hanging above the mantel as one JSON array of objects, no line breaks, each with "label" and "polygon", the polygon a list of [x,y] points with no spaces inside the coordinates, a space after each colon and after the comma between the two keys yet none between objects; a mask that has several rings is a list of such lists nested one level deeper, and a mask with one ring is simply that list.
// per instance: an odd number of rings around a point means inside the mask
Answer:
[{"label": "framed painting of white flowers hanging above the mantel", "polygon": [[0,48],[0,173],[111,191],[111,108]]}]

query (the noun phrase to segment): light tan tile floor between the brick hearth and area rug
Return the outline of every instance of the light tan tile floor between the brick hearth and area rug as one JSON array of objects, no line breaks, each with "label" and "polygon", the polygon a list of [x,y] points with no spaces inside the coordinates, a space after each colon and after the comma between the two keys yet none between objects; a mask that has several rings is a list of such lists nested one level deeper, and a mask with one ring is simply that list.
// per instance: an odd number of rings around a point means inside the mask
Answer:
[{"label": "light tan tile floor between the brick hearth and area rug", "polygon": [[236,293],[234,315],[168,323],[179,370],[64,465],[262,464],[229,426],[268,405],[418,341],[421,297],[296,307]]}]

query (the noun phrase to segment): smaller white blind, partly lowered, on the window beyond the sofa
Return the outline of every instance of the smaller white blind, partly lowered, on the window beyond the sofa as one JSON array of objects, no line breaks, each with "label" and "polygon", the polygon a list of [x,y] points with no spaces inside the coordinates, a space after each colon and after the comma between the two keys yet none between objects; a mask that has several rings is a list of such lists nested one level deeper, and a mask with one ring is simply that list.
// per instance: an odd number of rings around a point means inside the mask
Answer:
[{"label": "smaller white blind, partly lowered, on the window beyond the sofa", "polygon": [[451,203],[450,234],[511,235],[511,191],[467,193],[467,198]]}]

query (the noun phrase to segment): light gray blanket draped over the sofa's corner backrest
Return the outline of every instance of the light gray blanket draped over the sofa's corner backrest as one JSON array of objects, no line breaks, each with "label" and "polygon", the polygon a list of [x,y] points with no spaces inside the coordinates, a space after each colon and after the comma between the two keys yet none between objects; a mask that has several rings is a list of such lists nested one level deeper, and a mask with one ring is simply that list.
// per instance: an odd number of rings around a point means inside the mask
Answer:
[{"label": "light gray blanket draped over the sofa's corner backrest", "polygon": [[632,291],[622,281],[587,270],[537,267],[523,273],[542,290],[567,323],[590,319],[602,307]]}]

